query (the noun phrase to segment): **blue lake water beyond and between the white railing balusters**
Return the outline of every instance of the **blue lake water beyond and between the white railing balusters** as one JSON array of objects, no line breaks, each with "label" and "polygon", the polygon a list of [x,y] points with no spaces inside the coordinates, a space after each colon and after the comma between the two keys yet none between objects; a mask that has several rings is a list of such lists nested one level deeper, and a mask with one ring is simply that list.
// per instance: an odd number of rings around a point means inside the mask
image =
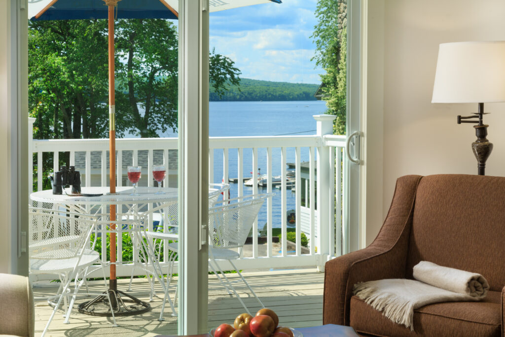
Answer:
[{"label": "blue lake water beyond and between the white railing balusters", "polygon": [[[313,115],[324,114],[326,104],[322,101],[293,102],[210,102],[209,135],[213,136],[271,136],[308,135],[316,133],[316,120]],[[176,137],[177,133],[167,132],[162,137]],[[301,161],[309,160],[309,149],[301,148]],[[252,150],[244,149],[243,176],[252,172]],[[267,173],[267,151],[258,149],[258,168]],[[211,181],[219,183],[223,177],[223,151],[214,152],[214,177]],[[294,162],[294,148],[286,149],[286,162]],[[272,174],[281,174],[280,149],[272,149]],[[237,151],[229,150],[229,177],[237,177]],[[237,184],[230,184],[231,198],[237,197]],[[259,187],[259,192],[266,192]],[[273,227],[281,226],[281,194],[274,189],[272,198]],[[244,186],[244,195],[252,194],[252,187]],[[295,208],[295,194],[287,190],[287,210]],[[258,214],[258,228],[267,222],[266,203]]]}]

